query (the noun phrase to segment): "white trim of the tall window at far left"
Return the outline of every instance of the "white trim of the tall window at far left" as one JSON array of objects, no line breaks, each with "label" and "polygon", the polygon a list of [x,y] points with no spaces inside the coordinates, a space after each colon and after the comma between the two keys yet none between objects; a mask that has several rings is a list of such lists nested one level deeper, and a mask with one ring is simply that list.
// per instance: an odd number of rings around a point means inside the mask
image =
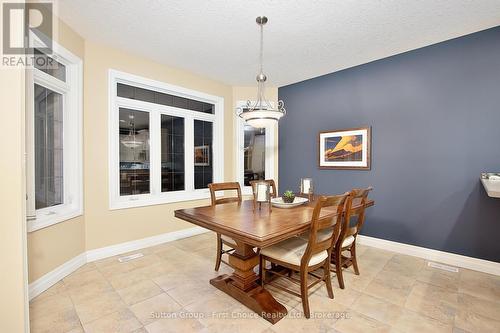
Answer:
[{"label": "white trim of the tall window at far left", "polygon": [[[40,43],[39,45],[37,45]],[[42,46],[35,41],[36,46]],[[40,70],[27,70],[26,175],[28,232],[33,232],[83,214],[83,62],[56,42],[51,58],[66,66],[66,82]],[[35,210],[34,85],[40,84],[63,97],[64,203]]]}]

